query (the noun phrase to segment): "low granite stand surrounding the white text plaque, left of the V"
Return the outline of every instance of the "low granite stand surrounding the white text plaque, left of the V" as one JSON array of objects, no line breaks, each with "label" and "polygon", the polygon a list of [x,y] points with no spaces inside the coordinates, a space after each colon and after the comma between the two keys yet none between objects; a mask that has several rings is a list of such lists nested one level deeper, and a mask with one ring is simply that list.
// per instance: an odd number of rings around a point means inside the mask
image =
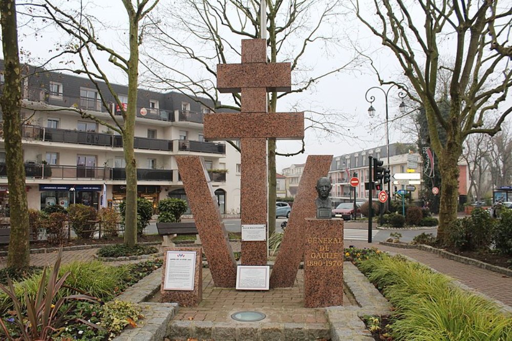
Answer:
[{"label": "low granite stand surrounding the white text plaque, left of the V", "polygon": [[[167,251],[194,251],[196,252],[196,268],[194,272],[194,290],[164,290],[165,268],[167,265]],[[162,284],[160,293],[162,302],[176,302],[182,307],[197,307],[203,299],[203,253],[201,247],[166,247],[163,249]]]}]

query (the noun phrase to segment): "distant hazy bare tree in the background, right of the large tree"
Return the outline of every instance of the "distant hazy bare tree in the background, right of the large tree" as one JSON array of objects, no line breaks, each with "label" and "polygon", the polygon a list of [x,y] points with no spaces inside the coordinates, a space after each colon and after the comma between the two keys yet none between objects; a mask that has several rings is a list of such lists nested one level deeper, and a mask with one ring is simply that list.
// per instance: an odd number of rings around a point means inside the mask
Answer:
[{"label": "distant hazy bare tree in the background, right of the large tree", "polygon": [[482,200],[491,188],[487,177],[490,166],[488,158],[492,150],[491,139],[488,135],[473,134],[464,141],[462,159],[466,163],[470,178],[470,187],[467,189],[467,193],[471,193],[476,201]]}]

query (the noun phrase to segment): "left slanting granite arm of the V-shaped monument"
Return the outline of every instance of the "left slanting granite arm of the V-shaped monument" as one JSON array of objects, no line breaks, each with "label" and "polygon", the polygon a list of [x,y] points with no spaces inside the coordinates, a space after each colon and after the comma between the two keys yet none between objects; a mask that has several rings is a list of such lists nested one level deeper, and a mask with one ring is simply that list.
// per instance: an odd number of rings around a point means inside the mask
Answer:
[{"label": "left slanting granite arm of the V-shaped monument", "polygon": [[237,263],[204,164],[199,156],[176,156],[176,161],[214,283],[234,288]]}]

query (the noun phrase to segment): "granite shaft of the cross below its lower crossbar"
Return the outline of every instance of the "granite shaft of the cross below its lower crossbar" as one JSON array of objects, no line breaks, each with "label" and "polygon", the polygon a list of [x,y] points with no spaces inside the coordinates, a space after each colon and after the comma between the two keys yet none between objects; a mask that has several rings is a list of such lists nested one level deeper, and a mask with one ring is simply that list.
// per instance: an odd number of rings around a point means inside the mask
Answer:
[{"label": "granite shaft of the cross below its lower crossbar", "polygon": [[[267,225],[267,148],[264,139],[242,139],[241,224]],[[267,265],[267,242],[242,241],[242,265]]]}]

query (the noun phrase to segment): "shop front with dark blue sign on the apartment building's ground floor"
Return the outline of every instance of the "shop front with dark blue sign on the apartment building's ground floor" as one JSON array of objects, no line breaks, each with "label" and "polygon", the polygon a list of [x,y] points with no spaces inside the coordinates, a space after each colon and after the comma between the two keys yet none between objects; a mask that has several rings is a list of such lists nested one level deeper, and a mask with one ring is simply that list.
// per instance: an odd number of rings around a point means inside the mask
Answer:
[{"label": "shop front with dark blue sign on the apartment building's ground floor", "polygon": [[99,208],[102,185],[39,185],[41,209],[50,205],[68,208],[71,204],[83,204]]}]

